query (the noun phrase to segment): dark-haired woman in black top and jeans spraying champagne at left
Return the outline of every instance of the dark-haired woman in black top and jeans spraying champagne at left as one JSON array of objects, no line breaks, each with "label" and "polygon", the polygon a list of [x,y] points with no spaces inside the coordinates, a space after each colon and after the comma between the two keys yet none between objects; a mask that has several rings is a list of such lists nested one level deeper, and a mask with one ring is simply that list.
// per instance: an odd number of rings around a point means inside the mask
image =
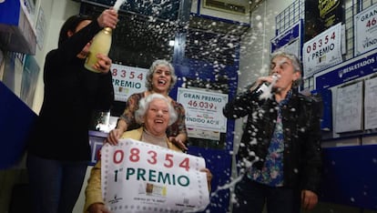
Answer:
[{"label": "dark-haired woman in black top and jeans spraying champagne at left", "polygon": [[117,12],[97,19],[74,15],[60,30],[58,47],[46,55],[45,95],[28,144],[27,169],[33,212],[71,213],[90,160],[88,125],[93,110],[108,110],[114,100],[111,59],[97,54],[84,67],[93,37],[115,28]]}]

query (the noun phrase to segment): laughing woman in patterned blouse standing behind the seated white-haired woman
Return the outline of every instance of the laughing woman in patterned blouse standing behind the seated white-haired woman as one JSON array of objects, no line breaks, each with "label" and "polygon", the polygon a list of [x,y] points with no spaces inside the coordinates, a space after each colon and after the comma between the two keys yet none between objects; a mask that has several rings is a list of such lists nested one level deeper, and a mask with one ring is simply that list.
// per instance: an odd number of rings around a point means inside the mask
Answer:
[{"label": "laughing woman in patterned blouse standing behind the seated white-haired woman", "polygon": [[135,111],[138,110],[138,101],[150,94],[158,93],[168,98],[168,101],[174,107],[178,115],[177,121],[168,127],[168,139],[182,150],[187,150],[185,145],[187,140],[185,108],[168,96],[168,92],[176,81],[177,76],[174,73],[174,67],[168,61],[156,60],[153,62],[147,74],[146,87],[148,90],[128,97],[125,111],[123,115],[119,117],[117,127],[108,134],[107,142],[116,145],[117,139],[121,137],[125,131],[140,127],[135,119]]}]

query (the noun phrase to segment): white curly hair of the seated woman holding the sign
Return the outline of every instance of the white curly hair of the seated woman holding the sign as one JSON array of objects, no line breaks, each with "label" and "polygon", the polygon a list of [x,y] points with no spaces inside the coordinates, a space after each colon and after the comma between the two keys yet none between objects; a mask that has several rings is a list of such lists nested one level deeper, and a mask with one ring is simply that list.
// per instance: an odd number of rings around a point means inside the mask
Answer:
[{"label": "white curly hair of the seated woman holding the sign", "polygon": [[149,104],[155,100],[161,99],[164,100],[168,104],[168,114],[170,116],[168,120],[168,126],[172,125],[174,122],[177,121],[178,115],[176,110],[173,106],[171,106],[170,101],[166,96],[162,96],[158,93],[153,93],[147,97],[141,98],[138,102],[138,110],[135,112],[135,119],[138,124],[142,124],[144,122],[143,117],[146,115],[147,110],[149,108]]}]

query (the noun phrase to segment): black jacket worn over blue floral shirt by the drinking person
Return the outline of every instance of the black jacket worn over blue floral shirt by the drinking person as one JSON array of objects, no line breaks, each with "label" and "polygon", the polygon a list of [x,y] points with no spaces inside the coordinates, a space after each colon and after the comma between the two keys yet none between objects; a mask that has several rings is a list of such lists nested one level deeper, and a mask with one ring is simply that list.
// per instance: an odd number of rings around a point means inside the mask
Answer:
[{"label": "black jacket worn over blue floral shirt by the drinking person", "polygon": [[[239,166],[253,162],[261,168],[268,154],[275,128],[278,103],[260,100],[254,91],[239,94],[223,109],[225,117],[248,116],[239,146]],[[284,186],[308,189],[318,194],[321,181],[321,104],[310,96],[292,91],[286,105],[281,106],[284,135]],[[255,155],[254,155],[255,153]]]}]

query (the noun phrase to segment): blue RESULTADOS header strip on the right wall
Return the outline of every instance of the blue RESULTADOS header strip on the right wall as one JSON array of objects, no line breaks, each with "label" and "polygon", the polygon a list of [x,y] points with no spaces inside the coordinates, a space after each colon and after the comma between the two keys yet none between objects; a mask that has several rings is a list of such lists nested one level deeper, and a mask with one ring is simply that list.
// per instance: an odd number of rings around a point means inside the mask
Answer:
[{"label": "blue RESULTADOS header strip on the right wall", "polygon": [[374,72],[377,72],[377,53],[362,57],[348,65],[315,77],[316,89],[321,90],[341,85],[353,79],[368,76]]}]

